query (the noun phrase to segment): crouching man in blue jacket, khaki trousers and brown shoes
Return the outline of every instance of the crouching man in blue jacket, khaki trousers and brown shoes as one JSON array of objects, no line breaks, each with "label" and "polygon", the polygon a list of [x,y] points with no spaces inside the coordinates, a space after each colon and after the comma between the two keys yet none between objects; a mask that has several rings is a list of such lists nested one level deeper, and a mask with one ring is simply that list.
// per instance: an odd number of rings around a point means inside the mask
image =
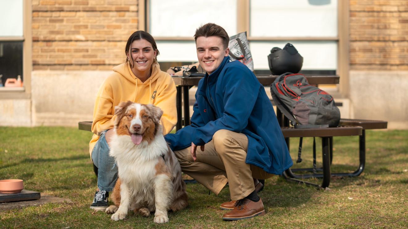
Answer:
[{"label": "crouching man in blue jacket, khaki trousers and brown shoes", "polygon": [[182,171],[215,194],[228,182],[231,201],[220,207],[231,211],[224,220],[264,215],[257,179],[282,174],[293,164],[275,111],[253,72],[230,62],[224,28],[208,23],[194,38],[206,74],[195,94],[191,125],[166,135],[166,142]]}]

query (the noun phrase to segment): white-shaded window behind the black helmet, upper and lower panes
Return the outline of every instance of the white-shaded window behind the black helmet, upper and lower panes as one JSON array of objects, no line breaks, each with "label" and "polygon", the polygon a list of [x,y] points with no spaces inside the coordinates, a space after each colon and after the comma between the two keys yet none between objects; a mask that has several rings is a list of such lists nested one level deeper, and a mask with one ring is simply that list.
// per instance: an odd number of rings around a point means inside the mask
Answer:
[{"label": "white-shaded window behind the black helmet, upper and lower panes", "polygon": [[268,70],[273,47],[293,44],[302,70],[337,68],[337,0],[251,0],[249,40],[254,68]]}]

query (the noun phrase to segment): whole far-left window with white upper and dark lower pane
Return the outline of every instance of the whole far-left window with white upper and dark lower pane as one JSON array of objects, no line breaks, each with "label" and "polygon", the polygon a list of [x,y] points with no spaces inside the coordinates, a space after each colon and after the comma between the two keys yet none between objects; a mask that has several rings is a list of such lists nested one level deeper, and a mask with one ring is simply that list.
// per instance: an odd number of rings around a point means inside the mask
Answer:
[{"label": "whole far-left window with white upper and dark lower pane", "polygon": [[4,85],[20,76],[24,87],[0,87],[0,98],[29,98],[31,0],[0,0],[0,75]]}]

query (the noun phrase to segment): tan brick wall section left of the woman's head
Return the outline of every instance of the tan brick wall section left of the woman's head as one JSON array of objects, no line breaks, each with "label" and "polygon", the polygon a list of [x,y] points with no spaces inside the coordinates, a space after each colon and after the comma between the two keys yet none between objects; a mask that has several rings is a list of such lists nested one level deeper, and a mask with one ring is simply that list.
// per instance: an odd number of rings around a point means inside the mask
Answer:
[{"label": "tan brick wall section left of the woman's head", "polygon": [[32,0],[33,70],[110,70],[138,30],[138,0]]}]

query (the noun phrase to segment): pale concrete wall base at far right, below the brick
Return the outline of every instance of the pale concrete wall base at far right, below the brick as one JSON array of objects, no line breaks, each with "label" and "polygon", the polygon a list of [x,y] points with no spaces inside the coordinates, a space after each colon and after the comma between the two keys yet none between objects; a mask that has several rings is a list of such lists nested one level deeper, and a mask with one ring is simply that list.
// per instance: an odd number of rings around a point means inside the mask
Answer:
[{"label": "pale concrete wall base at far right, below the brick", "polygon": [[385,120],[388,129],[407,129],[408,71],[350,71],[351,117]]}]

